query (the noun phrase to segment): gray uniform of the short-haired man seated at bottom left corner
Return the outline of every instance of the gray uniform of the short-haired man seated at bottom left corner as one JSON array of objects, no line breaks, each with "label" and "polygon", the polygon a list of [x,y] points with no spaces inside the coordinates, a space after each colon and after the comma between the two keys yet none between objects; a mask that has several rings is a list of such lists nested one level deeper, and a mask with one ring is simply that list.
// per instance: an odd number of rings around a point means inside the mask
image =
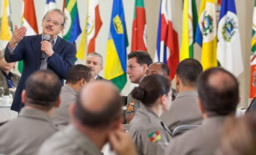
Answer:
[{"label": "gray uniform of the short-haired man seated at bottom left corner", "polygon": [[22,108],[19,117],[0,127],[0,154],[36,154],[57,129],[44,112]]}]

